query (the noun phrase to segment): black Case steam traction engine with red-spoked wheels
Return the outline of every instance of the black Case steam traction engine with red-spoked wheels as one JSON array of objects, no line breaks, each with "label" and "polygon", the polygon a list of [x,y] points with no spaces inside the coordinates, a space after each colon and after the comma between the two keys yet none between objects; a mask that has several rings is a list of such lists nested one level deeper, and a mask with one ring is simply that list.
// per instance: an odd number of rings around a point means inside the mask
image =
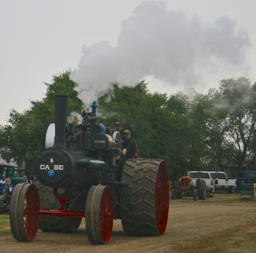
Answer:
[{"label": "black Case steam traction engine with red-spoked wheels", "polygon": [[[165,162],[128,159],[122,165],[121,136],[101,133],[92,112],[73,137],[66,127],[67,96],[55,96],[54,143],[34,162],[33,184],[18,184],[10,204],[15,239],[31,241],[42,231],[74,232],[85,217],[91,243],[108,243],[113,219],[121,219],[128,235],[162,235],[169,210]],[[69,138],[68,138],[69,137]]]}]

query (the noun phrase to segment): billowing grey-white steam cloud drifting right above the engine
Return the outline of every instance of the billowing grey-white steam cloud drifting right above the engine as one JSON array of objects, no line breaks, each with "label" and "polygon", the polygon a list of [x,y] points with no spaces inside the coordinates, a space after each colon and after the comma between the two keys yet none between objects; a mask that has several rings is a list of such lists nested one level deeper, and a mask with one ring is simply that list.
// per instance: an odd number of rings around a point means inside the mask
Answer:
[{"label": "billowing grey-white steam cloud drifting right above the engine", "polygon": [[83,45],[71,79],[86,104],[111,82],[131,85],[151,77],[166,88],[200,87],[208,79],[205,73],[224,75],[244,65],[250,41],[245,31],[236,30],[227,16],[209,25],[167,10],[163,1],[145,1],[123,21],[116,46],[107,41]]}]

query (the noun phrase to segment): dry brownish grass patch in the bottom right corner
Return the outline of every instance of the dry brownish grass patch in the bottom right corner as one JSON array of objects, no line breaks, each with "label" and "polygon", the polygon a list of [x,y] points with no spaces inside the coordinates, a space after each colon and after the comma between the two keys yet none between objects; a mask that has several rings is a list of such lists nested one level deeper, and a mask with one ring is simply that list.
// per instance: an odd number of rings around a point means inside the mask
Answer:
[{"label": "dry brownish grass patch in the bottom right corner", "polygon": [[201,238],[189,239],[174,247],[174,252],[227,253],[255,252],[256,221],[213,233]]}]

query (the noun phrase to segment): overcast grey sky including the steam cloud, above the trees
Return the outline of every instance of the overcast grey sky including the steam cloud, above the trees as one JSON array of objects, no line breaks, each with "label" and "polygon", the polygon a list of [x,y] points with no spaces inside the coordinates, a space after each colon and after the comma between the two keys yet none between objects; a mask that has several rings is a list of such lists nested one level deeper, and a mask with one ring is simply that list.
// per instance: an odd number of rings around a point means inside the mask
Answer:
[{"label": "overcast grey sky including the steam cloud, above the trees", "polygon": [[146,78],[168,94],[254,82],[255,9],[251,0],[0,0],[0,124],[67,69],[86,103],[115,81]]}]

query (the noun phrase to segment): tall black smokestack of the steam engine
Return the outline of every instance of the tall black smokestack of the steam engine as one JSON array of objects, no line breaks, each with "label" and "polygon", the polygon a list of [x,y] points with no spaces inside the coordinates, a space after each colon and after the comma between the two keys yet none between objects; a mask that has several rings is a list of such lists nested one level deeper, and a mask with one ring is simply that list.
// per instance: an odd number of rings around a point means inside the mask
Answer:
[{"label": "tall black smokestack of the steam engine", "polygon": [[55,95],[55,137],[53,147],[66,147],[66,117],[68,96]]}]

